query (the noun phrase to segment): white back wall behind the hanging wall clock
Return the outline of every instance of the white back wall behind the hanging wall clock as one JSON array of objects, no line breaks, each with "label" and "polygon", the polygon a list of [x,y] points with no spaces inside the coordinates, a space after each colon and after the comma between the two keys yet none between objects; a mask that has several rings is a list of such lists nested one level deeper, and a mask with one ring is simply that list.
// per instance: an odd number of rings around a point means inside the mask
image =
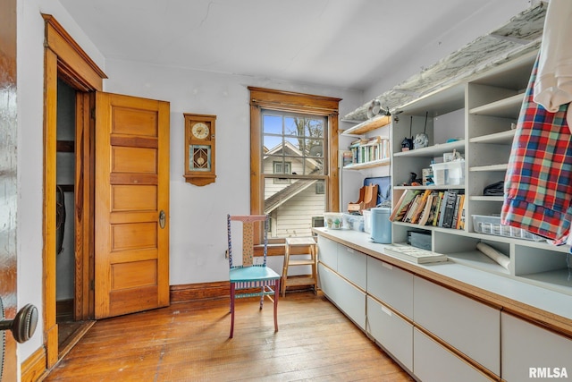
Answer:
[{"label": "white back wall behind the hanging wall clock", "polygon": [[[250,210],[250,110],[247,86],[343,98],[341,115],[361,94],[223,73],[106,61],[105,91],[171,103],[171,284],[228,277],[226,214]],[[185,183],[183,113],[216,115],[216,182]],[[282,260],[274,267],[280,271]]]}]

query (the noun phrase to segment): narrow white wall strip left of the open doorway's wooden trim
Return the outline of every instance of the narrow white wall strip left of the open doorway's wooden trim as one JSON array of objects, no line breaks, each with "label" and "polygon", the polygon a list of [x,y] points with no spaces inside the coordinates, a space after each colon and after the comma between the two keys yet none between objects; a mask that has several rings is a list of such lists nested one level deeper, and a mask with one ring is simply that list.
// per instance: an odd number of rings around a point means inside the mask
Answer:
[{"label": "narrow white wall strip left of the open doorway's wooden trim", "polygon": [[104,57],[57,0],[18,0],[18,307],[32,303],[38,308],[36,333],[18,345],[19,361],[25,361],[44,342],[42,275],[42,177],[44,118],[44,19],[52,14],[76,39],[99,67]]}]

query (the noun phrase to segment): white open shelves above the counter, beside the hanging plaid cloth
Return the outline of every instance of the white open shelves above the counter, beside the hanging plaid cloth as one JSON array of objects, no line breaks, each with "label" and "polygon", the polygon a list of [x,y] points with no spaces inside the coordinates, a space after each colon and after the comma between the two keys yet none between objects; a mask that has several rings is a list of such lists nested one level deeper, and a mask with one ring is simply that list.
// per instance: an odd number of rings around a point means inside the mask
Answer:
[{"label": "white open shelves above the counter, beside the hanging plaid cloth", "polygon": [[[394,222],[392,240],[405,242],[408,231],[411,230],[429,232],[433,236],[433,250],[448,254],[451,260],[459,264],[572,295],[572,277],[568,277],[572,274],[567,263],[568,248],[555,247],[546,241],[477,233],[473,226],[473,216],[501,214],[503,197],[487,196],[483,191],[487,185],[504,180],[515,126],[535,56],[536,52],[522,55],[490,72],[455,84],[453,89],[442,89],[446,97],[435,92],[418,102],[398,107],[399,121],[396,123],[393,120],[391,123],[391,135],[395,137],[391,157],[394,203],[406,190],[455,189],[466,195],[467,220],[463,230]],[[459,91],[459,87],[463,91]],[[456,95],[456,102],[451,99],[451,95]],[[409,121],[413,115],[413,131],[418,131],[419,124],[424,123],[425,112],[430,115],[427,124],[429,147],[400,152],[400,137],[409,134],[409,125],[404,122]],[[432,138],[439,136],[442,129],[440,120],[453,114],[457,115],[456,125],[460,127],[449,133],[459,135],[462,139],[450,143],[434,142]],[[411,172],[421,174],[423,168],[428,167],[432,161],[442,161],[442,154],[453,149],[466,159],[464,184],[427,187],[402,185]],[[509,269],[475,250],[478,242],[486,242],[507,256],[510,260]]]}]

